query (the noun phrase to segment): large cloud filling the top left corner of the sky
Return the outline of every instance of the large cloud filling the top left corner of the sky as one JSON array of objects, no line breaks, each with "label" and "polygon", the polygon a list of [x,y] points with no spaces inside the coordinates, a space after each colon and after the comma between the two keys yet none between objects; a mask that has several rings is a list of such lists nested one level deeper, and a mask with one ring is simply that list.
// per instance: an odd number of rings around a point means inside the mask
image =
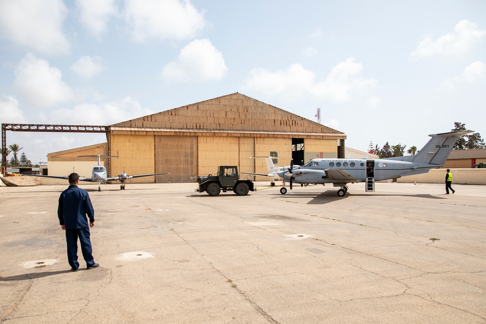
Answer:
[{"label": "large cloud filling the top left corner of the sky", "polygon": [[62,0],[0,1],[0,36],[43,54],[66,54],[62,32],[68,9]]}]

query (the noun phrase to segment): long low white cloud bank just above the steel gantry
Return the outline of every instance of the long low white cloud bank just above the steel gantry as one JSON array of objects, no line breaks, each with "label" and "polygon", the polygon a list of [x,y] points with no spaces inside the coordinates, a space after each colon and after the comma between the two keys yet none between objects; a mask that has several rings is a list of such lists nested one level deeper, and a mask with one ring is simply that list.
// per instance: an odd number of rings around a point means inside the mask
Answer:
[{"label": "long low white cloud bank just above the steel gantry", "polygon": [[131,97],[125,97],[114,102],[83,103],[72,109],[56,109],[51,112],[49,120],[62,124],[69,120],[69,123],[74,125],[110,125],[150,114],[153,114],[153,111],[143,108]]}]

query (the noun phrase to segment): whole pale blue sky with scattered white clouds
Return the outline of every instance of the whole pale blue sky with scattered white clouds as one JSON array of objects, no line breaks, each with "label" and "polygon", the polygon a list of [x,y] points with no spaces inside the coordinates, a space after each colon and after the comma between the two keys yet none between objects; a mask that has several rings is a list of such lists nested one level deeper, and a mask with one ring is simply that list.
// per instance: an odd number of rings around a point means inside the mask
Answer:
[{"label": "whole pale blue sky with scattered white clouds", "polygon": [[[484,0],[0,0],[0,122],[108,125],[234,92],[367,150],[486,137]],[[33,162],[104,135],[8,132]],[[11,156],[9,156],[10,158]]]}]

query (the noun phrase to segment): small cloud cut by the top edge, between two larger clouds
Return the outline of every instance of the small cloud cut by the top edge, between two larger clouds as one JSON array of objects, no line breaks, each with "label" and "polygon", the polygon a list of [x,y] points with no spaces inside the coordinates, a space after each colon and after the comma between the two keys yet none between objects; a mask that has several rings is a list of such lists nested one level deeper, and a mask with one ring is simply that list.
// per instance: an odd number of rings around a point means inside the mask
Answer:
[{"label": "small cloud cut by the top edge, between two larger clouds", "polygon": [[112,16],[118,15],[115,0],[76,0],[79,20],[92,34],[100,36]]}]

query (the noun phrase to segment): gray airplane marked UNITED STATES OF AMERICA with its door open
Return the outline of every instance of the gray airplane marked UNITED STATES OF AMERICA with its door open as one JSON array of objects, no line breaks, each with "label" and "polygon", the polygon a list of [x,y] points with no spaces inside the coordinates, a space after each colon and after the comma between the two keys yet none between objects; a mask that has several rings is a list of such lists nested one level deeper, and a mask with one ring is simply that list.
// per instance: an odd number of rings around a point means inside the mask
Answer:
[{"label": "gray airplane marked UNITED STATES OF AMERICA with its door open", "polygon": [[334,187],[341,187],[337,191],[339,197],[346,194],[348,183],[365,182],[366,191],[375,191],[375,181],[427,173],[443,166],[457,138],[469,133],[472,131],[429,135],[432,138],[416,155],[382,159],[313,159],[298,168],[293,168],[291,161],[291,167],[279,173],[284,179],[280,193],[287,193],[286,181],[289,181],[290,189],[294,182],[322,185],[332,183]]}]

